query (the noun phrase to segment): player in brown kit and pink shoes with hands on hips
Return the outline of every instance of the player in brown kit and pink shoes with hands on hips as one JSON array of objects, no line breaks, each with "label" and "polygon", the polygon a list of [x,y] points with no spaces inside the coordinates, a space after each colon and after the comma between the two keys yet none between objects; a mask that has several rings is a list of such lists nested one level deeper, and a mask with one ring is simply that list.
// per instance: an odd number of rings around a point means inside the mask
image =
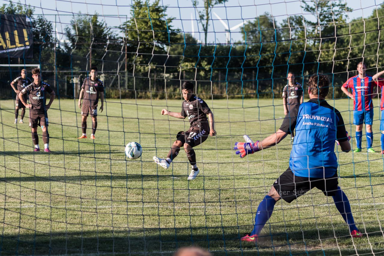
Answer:
[{"label": "player in brown kit and pink shoes with hands on hips", "polygon": [[[35,145],[35,151],[40,151],[39,137],[37,135],[37,126],[41,126],[43,130],[44,151],[49,150],[49,133],[48,133],[48,115],[47,110],[51,107],[55,99],[55,92],[51,86],[41,81],[40,68],[32,69],[33,83],[26,86],[20,93],[19,99],[22,101],[26,108],[29,108],[29,126],[32,130],[32,140]],[[46,105],[46,93],[51,94],[50,101]],[[29,95],[30,104],[26,104],[24,95]]]}]

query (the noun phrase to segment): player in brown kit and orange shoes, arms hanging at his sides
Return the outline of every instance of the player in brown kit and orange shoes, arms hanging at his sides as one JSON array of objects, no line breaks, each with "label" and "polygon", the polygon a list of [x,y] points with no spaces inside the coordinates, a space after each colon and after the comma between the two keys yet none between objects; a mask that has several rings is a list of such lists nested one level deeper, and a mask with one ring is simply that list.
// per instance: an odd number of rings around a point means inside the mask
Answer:
[{"label": "player in brown kit and orange shoes, arms hanging at his sides", "polygon": [[[100,112],[104,109],[104,86],[103,82],[97,78],[97,68],[92,67],[91,76],[84,79],[83,85],[79,95],[79,108],[81,108],[81,130],[83,134],[78,139],[85,139],[87,137],[87,117],[91,114],[92,117],[92,134],[91,139],[95,138],[95,132],[97,128],[97,105],[99,102],[99,96],[101,101]],[[84,96],[84,98],[83,98]],[[81,99],[83,98],[83,106],[81,105]]]}]

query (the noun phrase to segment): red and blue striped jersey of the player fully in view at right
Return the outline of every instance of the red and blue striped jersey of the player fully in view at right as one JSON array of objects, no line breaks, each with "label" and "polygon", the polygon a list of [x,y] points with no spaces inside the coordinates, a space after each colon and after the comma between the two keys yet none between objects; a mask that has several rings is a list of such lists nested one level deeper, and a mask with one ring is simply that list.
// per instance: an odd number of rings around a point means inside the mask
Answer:
[{"label": "red and blue striped jersey of the player fully in view at right", "polygon": [[[379,86],[383,86],[384,80],[379,80],[378,83]],[[365,78],[354,76],[343,84],[344,88],[351,88],[352,90],[353,110],[363,111],[373,109],[372,94],[374,86],[377,85],[376,81],[373,81],[372,76],[366,76]]]}]

